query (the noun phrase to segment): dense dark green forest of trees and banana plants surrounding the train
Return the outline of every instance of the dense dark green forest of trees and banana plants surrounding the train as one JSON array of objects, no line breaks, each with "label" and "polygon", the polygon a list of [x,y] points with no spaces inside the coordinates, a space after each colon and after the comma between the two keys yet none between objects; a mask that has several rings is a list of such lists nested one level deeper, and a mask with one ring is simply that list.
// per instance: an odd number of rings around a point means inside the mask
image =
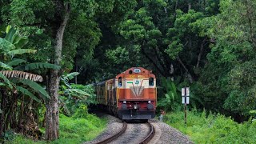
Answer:
[{"label": "dense dark green forest of trees and banana plants surrounding the train", "polygon": [[255,0],[0,0],[0,137],[59,137],[90,85],[152,70],[158,108],[248,120],[256,109]]}]

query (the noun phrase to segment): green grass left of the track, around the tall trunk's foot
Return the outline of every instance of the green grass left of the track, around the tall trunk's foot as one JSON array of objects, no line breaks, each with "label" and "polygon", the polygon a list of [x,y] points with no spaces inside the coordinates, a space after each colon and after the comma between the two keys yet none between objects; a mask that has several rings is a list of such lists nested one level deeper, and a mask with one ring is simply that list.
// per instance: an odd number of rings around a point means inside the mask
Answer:
[{"label": "green grass left of the track, around the tall trunk's foot", "polygon": [[32,143],[52,143],[52,144],[77,144],[90,141],[102,133],[106,127],[106,119],[100,119],[94,115],[88,114],[86,118],[66,117],[61,114],[59,118],[60,138],[53,142],[38,141],[34,142],[23,136],[15,136],[12,141],[6,143],[32,144]]}]

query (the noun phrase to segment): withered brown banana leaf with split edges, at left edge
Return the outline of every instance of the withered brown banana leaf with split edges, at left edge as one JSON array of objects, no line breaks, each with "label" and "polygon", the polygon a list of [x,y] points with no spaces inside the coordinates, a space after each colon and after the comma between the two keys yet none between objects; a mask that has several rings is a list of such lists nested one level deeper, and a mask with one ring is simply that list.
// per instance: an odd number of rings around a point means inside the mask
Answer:
[{"label": "withered brown banana leaf with split edges, at left edge", "polygon": [[31,74],[18,70],[2,70],[0,73],[3,74],[6,78],[22,78],[29,79],[34,82],[42,82],[42,76],[38,74]]}]

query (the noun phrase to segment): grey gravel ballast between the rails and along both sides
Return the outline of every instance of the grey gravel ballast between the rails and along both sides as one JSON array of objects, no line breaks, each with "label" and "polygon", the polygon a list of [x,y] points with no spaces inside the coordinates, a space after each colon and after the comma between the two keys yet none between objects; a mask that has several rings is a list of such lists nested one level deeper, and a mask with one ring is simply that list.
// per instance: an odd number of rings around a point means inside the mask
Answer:
[{"label": "grey gravel ballast between the rails and along both sides", "polygon": [[[122,121],[118,118],[110,115],[104,115],[103,117],[107,118],[109,121],[106,130],[102,132],[102,134],[98,135],[98,137],[93,141],[84,142],[84,144],[100,142],[103,139],[109,138],[111,135],[116,134],[119,130],[122,129]],[[155,128],[155,134],[149,142],[150,144],[194,143],[188,136],[182,134],[180,131],[174,129],[164,122],[159,122],[157,119],[151,119],[149,122],[152,123]],[[138,141],[138,139],[135,141],[136,138],[144,138],[143,134],[148,134],[148,130],[146,129],[146,124],[140,125],[138,123],[128,123],[127,131],[125,134],[111,143],[136,143]]]}]

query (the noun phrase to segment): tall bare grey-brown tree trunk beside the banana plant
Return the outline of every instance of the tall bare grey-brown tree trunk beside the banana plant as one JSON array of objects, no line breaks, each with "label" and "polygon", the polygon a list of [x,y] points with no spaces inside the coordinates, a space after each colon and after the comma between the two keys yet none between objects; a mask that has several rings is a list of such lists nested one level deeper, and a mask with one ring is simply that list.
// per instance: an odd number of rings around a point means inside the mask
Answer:
[{"label": "tall bare grey-brown tree trunk beside the banana plant", "polygon": [[[63,34],[65,31],[66,23],[70,17],[70,6],[65,6],[64,18],[62,19],[62,23],[58,28],[56,34],[56,45],[55,49],[55,58],[54,64],[60,65],[62,61],[62,42],[63,42]],[[59,136],[59,114],[58,114],[58,85],[60,80],[59,70],[50,70],[50,99],[46,100],[46,139],[54,140]]]}]

